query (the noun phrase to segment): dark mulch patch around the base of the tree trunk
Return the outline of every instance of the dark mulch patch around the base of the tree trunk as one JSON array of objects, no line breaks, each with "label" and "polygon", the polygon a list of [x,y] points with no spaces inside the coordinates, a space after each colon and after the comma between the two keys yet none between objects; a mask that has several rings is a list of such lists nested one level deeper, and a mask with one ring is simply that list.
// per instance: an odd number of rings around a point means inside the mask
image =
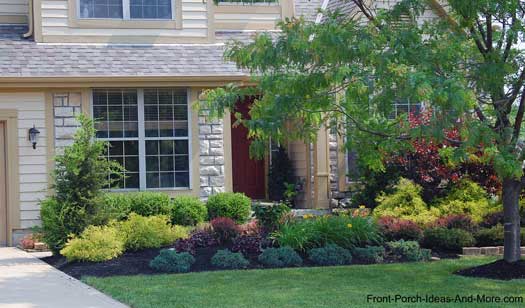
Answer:
[{"label": "dark mulch patch around the base of the tree trunk", "polygon": [[525,279],[525,260],[516,263],[498,260],[493,263],[462,269],[455,272],[455,274],[498,280]]}]

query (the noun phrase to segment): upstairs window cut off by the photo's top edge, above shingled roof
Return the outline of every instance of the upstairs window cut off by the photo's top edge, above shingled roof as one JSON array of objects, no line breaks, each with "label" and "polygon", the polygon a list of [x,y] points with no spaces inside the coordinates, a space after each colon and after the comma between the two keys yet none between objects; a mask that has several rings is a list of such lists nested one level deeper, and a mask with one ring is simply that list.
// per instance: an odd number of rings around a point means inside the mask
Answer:
[{"label": "upstairs window cut off by the photo's top edge, above shingled roof", "polygon": [[80,18],[172,19],[172,0],[78,0]]}]

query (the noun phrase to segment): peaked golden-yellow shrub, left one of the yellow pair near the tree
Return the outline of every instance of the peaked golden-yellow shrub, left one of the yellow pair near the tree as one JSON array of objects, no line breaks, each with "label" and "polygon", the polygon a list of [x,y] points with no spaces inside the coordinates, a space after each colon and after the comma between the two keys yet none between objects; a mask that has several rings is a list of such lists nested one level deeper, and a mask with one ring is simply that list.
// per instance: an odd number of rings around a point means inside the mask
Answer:
[{"label": "peaked golden-yellow shrub, left one of the yellow pair near the tree", "polygon": [[378,206],[374,209],[377,218],[390,216],[407,219],[424,225],[434,221],[437,216],[427,207],[421,198],[421,186],[401,178],[391,194],[381,194],[377,198]]}]

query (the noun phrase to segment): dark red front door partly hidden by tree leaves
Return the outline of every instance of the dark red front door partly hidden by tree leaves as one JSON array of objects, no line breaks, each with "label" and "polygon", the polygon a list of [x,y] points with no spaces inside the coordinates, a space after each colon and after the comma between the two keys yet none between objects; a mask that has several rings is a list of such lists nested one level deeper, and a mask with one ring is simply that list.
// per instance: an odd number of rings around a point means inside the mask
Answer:
[{"label": "dark red front door partly hidden by tree leaves", "polygon": [[[253,99],[246,98],[237,104],[236,112],[249,118]],[[232,124],[237,119],[232,112]],[[242,192],[252,199],[264,199],[265,190],[265,169],[264,160],[250,159],[250,143],[248,139],[248,129],[243,125],[232,126],[232,171],[233,171],[233,191]]]}]

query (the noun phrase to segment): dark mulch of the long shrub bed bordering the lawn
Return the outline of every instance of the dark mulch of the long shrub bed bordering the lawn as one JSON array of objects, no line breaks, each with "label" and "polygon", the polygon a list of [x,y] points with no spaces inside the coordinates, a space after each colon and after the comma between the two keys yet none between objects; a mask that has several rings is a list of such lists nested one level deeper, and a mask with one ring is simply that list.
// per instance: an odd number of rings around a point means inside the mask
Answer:
[{"label": "dark mulch of the long shrub bed bordering the lawn", "polygon": [[[171,247],[165,247],[171,248]],[[163,248],[163,249],[165,249]],[[192,272],[203,271],[217,271],[222,270],[211,265],[211,258],[217,250],[231,249],[230,245],[213,246],[205,248],[197,248],[195,254],[195,263],[191,267]],[[162,274],[149,267],[149,262],[155,258],[161,249],[147,249],[136,252],[126,252],[122,256],[106,261],[106,262],[71,262],[68,263],[62,256],[52,256],[43,258],[42,260],[64,273],[80,279],[82,276],[95,277],[110,277],[110,276],[125,276],[125,275],[156,275]],[[455,258],[457,254],[453,253],[433,253],[433,256],[440,258]],[[246,259],[250,261],[247,269],[264,269],[267,268],[257,260],[257,254],[245,255]],[[303,258],[303,267],[317,266],[313,264],[307,255],[301,255]],[[387,256],[384,263],[399,262],[397,259],[392,259]],[[354,259],[352,264],[366,264],[358,259]]]}]

